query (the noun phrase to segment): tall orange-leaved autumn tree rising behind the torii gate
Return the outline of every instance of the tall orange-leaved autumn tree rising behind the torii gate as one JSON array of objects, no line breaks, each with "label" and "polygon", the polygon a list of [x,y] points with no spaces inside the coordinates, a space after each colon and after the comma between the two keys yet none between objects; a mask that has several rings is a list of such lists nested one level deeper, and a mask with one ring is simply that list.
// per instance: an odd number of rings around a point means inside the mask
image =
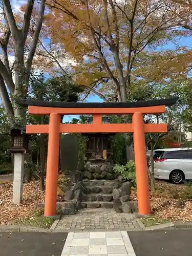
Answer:
[{"label": "tall orange-leaved autumn tree rising behind the torii gate", "polygon": [[50,0],[48,6],[52,41],[76,61],[79,85],[105,101],[125,102],[133,85],[170,76],[167,66],[175,65],[179,49],[157,48],[185,35],[177,29],[185,7],[164,0]]}]

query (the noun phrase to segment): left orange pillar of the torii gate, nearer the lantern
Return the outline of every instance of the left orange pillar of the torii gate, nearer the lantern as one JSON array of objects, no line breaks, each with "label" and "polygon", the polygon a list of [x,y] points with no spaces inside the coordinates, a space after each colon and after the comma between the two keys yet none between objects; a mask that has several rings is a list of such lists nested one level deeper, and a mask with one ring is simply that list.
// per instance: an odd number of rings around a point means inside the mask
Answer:
[{"label": "left orange pillar of the torii gate, nearer the lantern", "polygon": [[59,125],[60,125],[60,115],[57,113],[51,113],[50,120],[49,120],[45,216],[54,216],[56,214],[59,138],[60,138]]}]

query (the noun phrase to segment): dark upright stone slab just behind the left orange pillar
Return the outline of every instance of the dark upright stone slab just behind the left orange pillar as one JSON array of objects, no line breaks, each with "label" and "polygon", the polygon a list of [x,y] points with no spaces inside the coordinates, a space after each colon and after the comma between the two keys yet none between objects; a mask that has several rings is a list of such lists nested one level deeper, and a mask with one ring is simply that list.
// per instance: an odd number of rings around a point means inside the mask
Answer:
[{"label": "dark upright stone slab just behind the left orange pillar", "polygon": [[75,134],[66,134],[60,140],[61,170],[78,169],[78,138]]}]

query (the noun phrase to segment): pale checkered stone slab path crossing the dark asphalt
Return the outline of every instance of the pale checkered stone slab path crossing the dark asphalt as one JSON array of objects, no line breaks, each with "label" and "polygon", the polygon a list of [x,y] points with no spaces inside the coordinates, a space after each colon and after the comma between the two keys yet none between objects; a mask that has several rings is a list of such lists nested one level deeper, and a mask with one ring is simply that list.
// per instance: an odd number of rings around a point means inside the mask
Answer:
[{"label": "pale checkered stone slab path crossing the dark asphalt", "polygon": [[70,232],[61,256],[136,256],[126,231]]}]

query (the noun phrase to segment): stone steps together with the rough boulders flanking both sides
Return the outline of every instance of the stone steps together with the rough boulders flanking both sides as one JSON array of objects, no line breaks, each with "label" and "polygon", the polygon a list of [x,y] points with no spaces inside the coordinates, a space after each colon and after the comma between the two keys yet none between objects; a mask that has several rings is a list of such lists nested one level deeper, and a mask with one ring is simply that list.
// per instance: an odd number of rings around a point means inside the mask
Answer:
[{"label": "stone steps together with the rough boulders flanking both sides", "polygon": [[[79,172],[80,173],[80,172]],[[131,183],[115,180],[80,179],[78,171],[71,176],[70,186],[64,201],[57,202],[59,211],[64,215],[73,215],[82,208],[114,208],[116,212],[131,213],[137,211],[137,202],[130,201]]]}]

